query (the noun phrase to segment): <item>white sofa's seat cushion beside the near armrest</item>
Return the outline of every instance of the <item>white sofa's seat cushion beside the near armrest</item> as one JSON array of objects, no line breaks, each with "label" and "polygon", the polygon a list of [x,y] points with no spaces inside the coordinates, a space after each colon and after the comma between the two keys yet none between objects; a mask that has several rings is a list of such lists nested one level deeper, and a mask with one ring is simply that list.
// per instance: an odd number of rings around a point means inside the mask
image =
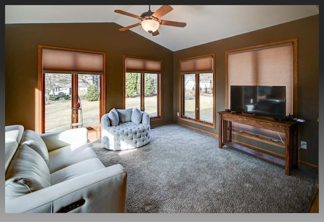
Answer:
[{"label": "white sofa's seat cushion beside the near armrest", "polygon": [[51,174],[51,184],[63,182],[68,179],[75,178],[77,176],[84,175],[86,173],[91,173],[98,169],[104,168],[105,166],[98,158],[91,158],[84,160],[63,169],[60,169]]}]

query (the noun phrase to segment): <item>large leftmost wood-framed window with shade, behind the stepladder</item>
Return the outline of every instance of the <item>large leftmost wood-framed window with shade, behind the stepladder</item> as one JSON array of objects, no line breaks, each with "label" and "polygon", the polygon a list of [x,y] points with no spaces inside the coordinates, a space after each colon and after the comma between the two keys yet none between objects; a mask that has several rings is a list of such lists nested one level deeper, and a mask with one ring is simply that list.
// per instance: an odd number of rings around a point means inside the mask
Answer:
[{"label": "large leftmost wood-framed window with shade, behind the stepladder", "polygon": [[[105,54],[38,46],[38,132],[100,126]],[[81,109],[71,107],[80,102]],[[76,126],[72,126],[72,123]]]}]

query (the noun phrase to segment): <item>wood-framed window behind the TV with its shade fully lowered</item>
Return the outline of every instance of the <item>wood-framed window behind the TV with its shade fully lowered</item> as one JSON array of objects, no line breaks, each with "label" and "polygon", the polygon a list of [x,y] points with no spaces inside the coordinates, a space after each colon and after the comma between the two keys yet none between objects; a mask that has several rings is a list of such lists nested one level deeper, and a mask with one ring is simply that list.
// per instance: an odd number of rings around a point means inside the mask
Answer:
[{"label": "wood-framed window behind the TV with its shade fully lowered", "polygon": [[[297,116],[297,39],[227,51],[226,64],[226,108],[230,108],[232,85],[286,86],[286,116]],[[285,134],[271,130],[237,123],[232,127],[285,139]]]}]

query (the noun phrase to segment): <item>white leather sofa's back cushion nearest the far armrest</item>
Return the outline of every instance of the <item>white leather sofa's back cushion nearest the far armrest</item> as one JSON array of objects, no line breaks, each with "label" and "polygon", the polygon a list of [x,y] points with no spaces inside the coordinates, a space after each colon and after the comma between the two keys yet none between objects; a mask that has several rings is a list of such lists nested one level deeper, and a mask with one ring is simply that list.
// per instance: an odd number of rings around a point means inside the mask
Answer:
[{"label": "white leather sofa's back cushion nearest the far armrest", "polygon": [[44,140],[33,130],[25,130],[20,144],[24,144],[29,146],[31,149],[36,151],[43,159],[45,160],[46,164],[49,164],[49,152],[47,150],[47,146]]}]

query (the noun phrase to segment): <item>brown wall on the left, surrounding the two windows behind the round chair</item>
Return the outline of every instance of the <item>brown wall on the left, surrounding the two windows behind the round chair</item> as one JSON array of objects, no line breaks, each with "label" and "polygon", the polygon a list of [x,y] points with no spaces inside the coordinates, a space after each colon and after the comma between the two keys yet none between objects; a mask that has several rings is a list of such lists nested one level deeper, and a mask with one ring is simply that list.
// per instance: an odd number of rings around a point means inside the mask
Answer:
[{"label": "brown wall on the left, surrounding the two windows behind the round chair", "polygon": [[[115,23],[6,24],[5,124],[35,130],[37,46],[106,53],[106,107],[123,107],[123,54],[163,59],[163,120],[172,122],[173,52]],[[154,124],[156,124],[154,123]]]}]

